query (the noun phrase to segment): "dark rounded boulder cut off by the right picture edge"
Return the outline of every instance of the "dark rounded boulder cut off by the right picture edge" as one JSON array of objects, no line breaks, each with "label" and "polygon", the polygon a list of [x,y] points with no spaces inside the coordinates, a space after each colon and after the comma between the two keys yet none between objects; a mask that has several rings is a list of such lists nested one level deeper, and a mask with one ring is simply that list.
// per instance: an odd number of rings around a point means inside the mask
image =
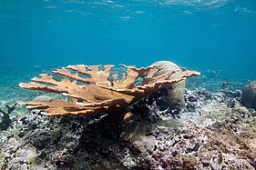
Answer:
[{"label": "dark rounded boulder cut off by the right picture edge", "polygon": [[241,104],[256,109],[256,81],[252,81],[242,90]]}]

